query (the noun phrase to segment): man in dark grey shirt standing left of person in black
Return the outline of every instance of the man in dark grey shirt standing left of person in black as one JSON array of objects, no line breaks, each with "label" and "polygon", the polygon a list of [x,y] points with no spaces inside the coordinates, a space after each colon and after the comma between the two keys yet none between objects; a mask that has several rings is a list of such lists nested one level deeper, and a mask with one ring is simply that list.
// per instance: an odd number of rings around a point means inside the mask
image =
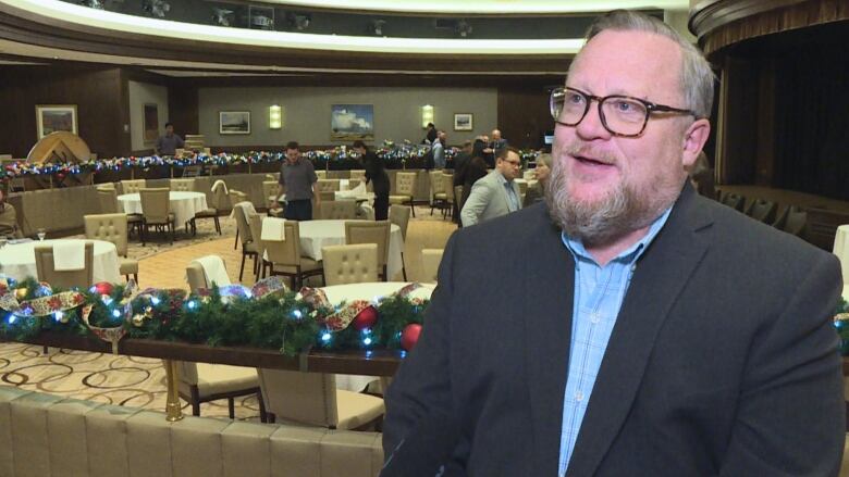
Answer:
[{"label": "man in dark grey shirt standing left of person in black", "polygon": [[312,200],[319,203],[321,196],[316,189],[316,170],[312,163],[300,158],[298,143],[286,143],[286,160],[280,167],[280,185],[286,189],[286,210],[283,216],[290,221],[311,221]]}]

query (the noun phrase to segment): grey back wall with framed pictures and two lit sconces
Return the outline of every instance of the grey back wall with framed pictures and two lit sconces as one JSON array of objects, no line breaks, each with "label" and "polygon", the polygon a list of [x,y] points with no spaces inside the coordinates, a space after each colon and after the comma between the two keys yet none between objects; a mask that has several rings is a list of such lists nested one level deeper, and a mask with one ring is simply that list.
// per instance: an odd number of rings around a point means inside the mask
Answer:
[{"label": "grey back wall with framed pictures and two lit sconces", "polygon": [[[373,104],[374,142],[384,139],[399,143],[404,139],[420,142],[420,108],[434,106],[434,124],[445,129],[448,143],[462,143],[477,134],[489,133],[497,123],[495,88],[422,87],[244,87],[200,88],[198,91],[199,130],[210,147],[281,146],[297,140],[304,146],[343,145],[332,141],[332,104]],[[268,106],[284,109],[280,130],[268,128]],[[250,111],[249,135],[220,135],[219,111]],[[472,113],[475,130],[455,131],[454,113]]]}]

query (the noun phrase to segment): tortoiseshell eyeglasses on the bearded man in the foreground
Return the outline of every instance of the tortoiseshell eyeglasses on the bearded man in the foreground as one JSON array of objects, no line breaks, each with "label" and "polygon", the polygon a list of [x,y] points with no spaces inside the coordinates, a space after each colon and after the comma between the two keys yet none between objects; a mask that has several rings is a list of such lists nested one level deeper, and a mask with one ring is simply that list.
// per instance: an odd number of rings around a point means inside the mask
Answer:
[{"label": "tortoiseshell eyeglasses on the bearded man in the foreground", "polygon": [[644,101],[630,96],[598,97],[575,88],[555,88],[549,99],[554,122],[564,126],[577,126],[590,111],[590,103],[599,103],[599,117],[607,131],[619,137],[637,137],[645,129],[652,113],[687,114],[696,112]]}]

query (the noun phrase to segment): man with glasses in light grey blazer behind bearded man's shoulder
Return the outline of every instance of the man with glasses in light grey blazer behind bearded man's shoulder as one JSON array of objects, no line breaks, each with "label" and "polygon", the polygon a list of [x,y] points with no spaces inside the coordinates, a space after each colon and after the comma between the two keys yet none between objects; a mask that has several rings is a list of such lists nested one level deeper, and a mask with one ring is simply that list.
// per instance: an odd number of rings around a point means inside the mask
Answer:
[{"label": "man with glasses in light grey blazer behind bearded man's shoulder", "polygon": [[499,150],[495,170],[471,186],[471,193],[460,211],[464,227],[521,209],[519,186],[513,180],[518,177],[520,165],[516,148]]}]

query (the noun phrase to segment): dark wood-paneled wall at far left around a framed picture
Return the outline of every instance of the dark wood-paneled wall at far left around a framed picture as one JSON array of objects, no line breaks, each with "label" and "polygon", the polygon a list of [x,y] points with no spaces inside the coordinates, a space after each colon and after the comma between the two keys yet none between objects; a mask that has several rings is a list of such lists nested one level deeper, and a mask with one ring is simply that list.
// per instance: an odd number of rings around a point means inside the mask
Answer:
[{"label": "dark wood-paneled wall at far left around a framed picture", "polygon": [[36,104],[76,104],[79,137],[101,158],[130,151],[120,70],[7,66],[0,84],[0,153],[25,158],[36,143]]}]

